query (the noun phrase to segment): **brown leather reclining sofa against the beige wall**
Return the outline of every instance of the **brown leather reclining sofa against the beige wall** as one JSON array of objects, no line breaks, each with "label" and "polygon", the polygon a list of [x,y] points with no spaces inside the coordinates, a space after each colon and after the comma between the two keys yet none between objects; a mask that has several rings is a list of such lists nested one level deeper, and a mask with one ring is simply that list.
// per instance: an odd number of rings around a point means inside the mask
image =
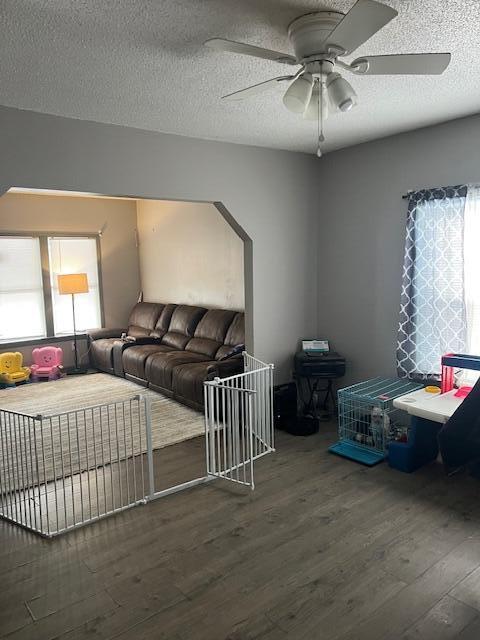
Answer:
[{"label": "brown leather reclining sofa against the beige wall", "polygon": [[[122,333],[135,341],[121,340]],[[243,371],[243,359],[235,354],[245,342],[243,312],[139,302],[126,329],[94,330],[88,338],[96,369],[198,410],[205,380]]]}]

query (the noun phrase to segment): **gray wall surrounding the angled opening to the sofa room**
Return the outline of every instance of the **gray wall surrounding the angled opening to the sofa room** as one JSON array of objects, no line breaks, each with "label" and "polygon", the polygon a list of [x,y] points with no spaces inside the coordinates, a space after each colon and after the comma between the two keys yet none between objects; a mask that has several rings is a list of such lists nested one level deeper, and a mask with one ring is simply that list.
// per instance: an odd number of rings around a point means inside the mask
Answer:
[{"label": "gray wall surrounding the angled opening to the sofa room", "polygon": [[253,241],[251,346],[289,377],[297,338],[316,328],[315,157],[4,107],[0,148],[0,190],[222,202]]}]

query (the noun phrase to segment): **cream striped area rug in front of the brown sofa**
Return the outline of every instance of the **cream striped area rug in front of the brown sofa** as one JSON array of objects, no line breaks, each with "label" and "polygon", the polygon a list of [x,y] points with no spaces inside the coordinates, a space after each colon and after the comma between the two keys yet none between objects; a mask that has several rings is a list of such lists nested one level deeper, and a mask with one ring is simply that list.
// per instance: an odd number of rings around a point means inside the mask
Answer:
[{"label": "cream striped area rug in front of the brown sofa", "polygon": [[1,390],[1,492],[142,456],[145,410],[139,395],[151,407],[153,449],[204,433],[201,413],[104,373]]}]

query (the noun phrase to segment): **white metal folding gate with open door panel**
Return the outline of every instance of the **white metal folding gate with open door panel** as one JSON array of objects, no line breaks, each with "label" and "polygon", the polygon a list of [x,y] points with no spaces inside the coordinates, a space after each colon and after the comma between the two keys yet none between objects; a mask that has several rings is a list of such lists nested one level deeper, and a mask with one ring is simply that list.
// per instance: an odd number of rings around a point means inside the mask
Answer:
[{"label": "white metal folding gate with open door panel", "polygon": [[55,415],[0,409],[0,516],[53,537],[215,478],[253,489],[254,461],[274,451],[273,365],[245,353],[244,373],[204,387],[207,473],[163,491],[144,396]]}]

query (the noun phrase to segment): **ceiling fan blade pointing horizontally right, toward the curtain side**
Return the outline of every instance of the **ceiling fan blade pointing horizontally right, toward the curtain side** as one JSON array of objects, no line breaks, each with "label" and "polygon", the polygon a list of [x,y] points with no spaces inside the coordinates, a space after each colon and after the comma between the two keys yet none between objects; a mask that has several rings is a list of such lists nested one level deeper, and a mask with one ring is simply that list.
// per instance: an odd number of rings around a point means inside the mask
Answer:
[{"label": "ceiling fan blade pointing horizontally right, toward the curtain side", "polygon": [[407,53],[391,56],[365,56],[350,66],[360,75],[440,75],[448,67],[449,53]]}]

